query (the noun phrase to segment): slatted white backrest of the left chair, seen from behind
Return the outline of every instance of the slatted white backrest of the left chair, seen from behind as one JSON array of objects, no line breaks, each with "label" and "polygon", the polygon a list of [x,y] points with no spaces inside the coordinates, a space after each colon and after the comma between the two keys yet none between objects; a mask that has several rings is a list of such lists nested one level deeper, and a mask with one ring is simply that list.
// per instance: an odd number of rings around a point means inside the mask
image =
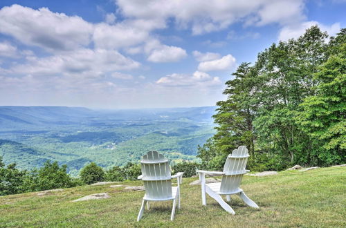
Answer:
[{"label": "slatted white backrest of the left chair, seen from behind", "polygon": [[157,151],[149,151],[140,162],[145,193],[148,198],[172,198],[172,182],[169,161]]}]

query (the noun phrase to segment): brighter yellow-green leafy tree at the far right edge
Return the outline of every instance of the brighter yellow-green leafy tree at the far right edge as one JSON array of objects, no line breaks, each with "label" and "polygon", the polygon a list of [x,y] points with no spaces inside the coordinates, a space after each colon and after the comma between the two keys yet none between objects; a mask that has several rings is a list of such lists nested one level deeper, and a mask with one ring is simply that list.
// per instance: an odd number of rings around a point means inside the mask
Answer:
[{"label": "brighter yellow-green leafy tree at the far right edge", "polygon": [[316,95],[301,104],[303,111],[296,118],[302,129],[329,153],[320,153],[328,164],[345,161],[346,154],[346,39],[337,55],[329,57],[318,73]]}]

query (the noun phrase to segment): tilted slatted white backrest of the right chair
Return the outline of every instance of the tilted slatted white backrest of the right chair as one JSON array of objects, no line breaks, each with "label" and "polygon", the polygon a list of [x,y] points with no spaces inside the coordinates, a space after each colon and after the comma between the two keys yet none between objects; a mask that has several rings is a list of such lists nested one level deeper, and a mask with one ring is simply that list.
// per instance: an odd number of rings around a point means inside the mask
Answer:
[{"label": "tilted slatted white backrest of the right chair", "polygon": [[239,146],[230,155],[228,155],[224,173],[221,180],[221,193],[230,193],[239,189],[243,175],[246,173],[246,164],[248,162],[248,149],[246,146]]}]

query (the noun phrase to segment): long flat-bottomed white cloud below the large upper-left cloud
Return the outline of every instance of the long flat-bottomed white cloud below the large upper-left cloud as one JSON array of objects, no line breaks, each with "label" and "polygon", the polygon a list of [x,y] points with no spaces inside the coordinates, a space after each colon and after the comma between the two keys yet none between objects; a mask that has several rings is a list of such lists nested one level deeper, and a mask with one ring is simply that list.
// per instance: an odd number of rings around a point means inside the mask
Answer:
[{"label": "long flat-bottomed white cloud below the large upper-left cloud", "polygon": [[100,77],[115,70],[129,70],[139,66],[137,61],[121,55],[116,50],[84,48],[51,57],[28,57],[26,64],[14,66],[10,72],[24,75]]}]

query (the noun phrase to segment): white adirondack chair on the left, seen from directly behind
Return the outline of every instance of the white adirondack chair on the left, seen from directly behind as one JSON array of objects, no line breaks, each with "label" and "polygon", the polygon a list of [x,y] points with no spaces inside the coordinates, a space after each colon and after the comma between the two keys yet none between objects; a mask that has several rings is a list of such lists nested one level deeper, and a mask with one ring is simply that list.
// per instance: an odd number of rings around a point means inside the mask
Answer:
[{"label": "white adirondack chair on the left, seen from directly behind", "polygon": [[[149,209],[149,201],[173,200],[171,220],[174,218],[176,200],[180,209],[180,184],[183,180],[183,173],[176,173],[171,176],[170,164],[165,157],[157,151],[149,151],[143,155],[140,162],[142,175],[138,177],[143,180],[145,195],[143,197],[142,207],[138,213],[137,221],[143,216],[145,204]],[[172,187],[172,178],[177,178],[178,187]]]}]

